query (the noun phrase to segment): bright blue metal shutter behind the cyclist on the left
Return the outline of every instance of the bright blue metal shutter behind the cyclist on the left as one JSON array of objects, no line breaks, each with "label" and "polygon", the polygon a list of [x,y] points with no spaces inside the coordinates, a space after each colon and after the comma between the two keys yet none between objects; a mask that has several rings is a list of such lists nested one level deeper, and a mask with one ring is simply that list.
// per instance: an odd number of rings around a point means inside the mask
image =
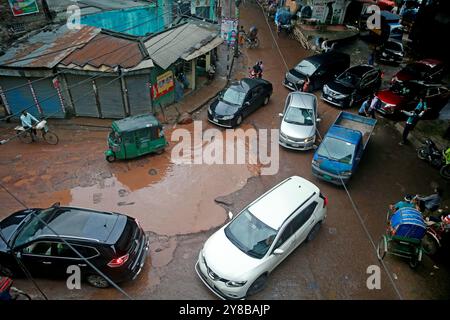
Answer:
[{"label": "bright blue metal shutter behind the cyclist on the left", "polygon": [[[30,80],[33,81],[35,79]],[[64,111],[61,107],[58,91],[53,86],[52,80],[44,79],[37,81],[34,82],[32,86],[44,116],[50,118],[64,118]]]}]

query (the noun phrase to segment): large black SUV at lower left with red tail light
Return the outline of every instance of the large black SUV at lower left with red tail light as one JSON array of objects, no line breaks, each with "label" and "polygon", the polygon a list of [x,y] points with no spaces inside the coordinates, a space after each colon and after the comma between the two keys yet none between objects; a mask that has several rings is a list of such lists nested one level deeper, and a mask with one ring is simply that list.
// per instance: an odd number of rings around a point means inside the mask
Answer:
[{"label": "large black SUV at lower left with red tail light", "polygon": [[135,279],[149,249],[133,218],[59,205],[15,212],[0,221],[0,230],[0,273],[9,277],[23,273],[17,258],[36,276],[67,277],[67,268],[78,266],[83,280],[105,288],[108,281],[63,239],[114,282]]}]

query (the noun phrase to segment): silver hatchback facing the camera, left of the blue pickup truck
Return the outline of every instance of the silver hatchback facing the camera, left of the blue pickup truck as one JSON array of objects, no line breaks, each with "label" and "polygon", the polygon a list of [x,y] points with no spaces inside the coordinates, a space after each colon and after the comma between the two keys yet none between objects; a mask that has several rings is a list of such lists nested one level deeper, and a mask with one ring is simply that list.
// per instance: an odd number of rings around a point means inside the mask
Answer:
[{"label": "silver hatchback facing the camera, left of the blue pickup truck", "polygon": [[280,145],[294,150],[309,150],[314,147],[317,123],[321,121],[317,114],[315,95],[291,92],[280,117]]}]

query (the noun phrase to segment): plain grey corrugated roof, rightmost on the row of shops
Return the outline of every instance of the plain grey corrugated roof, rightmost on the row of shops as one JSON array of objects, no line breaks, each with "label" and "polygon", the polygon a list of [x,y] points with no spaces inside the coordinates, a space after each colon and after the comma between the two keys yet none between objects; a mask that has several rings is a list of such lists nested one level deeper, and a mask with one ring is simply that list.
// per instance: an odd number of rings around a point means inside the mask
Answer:
[{"label": "plain grey corrugated roof, rightmost on the row of shops", "polygon": [[219,34],[218,27],[210,23],[186,23],[162,32],[145,42],[154,63],[167,69],[179,58],[188,57]]}]

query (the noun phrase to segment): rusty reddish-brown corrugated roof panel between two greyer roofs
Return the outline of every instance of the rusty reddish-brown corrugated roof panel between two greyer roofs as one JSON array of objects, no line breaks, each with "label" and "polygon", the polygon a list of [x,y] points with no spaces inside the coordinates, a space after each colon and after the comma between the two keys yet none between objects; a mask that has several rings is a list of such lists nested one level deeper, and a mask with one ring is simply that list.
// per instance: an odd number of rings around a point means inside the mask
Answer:
[{"label": "rusty reddish-brown corrugated roof panel between two greyer roofs", "polygon": [[144,58],[138,41],[102,33],[84,47],[72,52],[61,63],[66,66],[73,64],[82,68],[86,66],[133,68]]}]

